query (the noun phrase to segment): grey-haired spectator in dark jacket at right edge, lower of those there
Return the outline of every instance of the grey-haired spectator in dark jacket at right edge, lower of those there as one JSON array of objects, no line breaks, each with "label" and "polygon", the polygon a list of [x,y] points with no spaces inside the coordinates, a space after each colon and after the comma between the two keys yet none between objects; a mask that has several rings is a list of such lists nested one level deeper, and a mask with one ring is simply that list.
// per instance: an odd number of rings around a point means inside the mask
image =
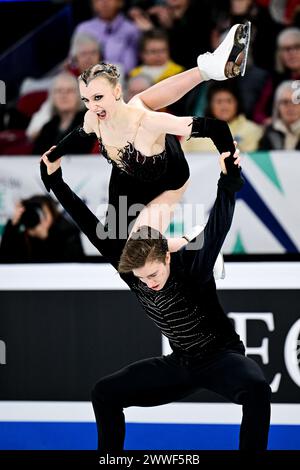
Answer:
[{"label": "grey-haired spectator in dark jacket at right edge, lower of those there", "polygon": [[275,93],[272,123],[262,136],[260,150],[300,150],[300,89],[287,80]]}]

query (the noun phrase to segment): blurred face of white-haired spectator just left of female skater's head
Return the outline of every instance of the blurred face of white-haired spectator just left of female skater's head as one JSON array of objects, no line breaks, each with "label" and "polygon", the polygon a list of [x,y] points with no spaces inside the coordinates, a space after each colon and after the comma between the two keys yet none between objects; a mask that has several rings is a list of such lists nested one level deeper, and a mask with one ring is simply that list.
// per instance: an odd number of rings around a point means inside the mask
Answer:
[{"label": "blurred face of white-haired spectator just left of female skater's head", "polygon": [[59,79],[53,88],[53,104],[59,113],[76,113],[79,108],[77,84],[67,78]]}]

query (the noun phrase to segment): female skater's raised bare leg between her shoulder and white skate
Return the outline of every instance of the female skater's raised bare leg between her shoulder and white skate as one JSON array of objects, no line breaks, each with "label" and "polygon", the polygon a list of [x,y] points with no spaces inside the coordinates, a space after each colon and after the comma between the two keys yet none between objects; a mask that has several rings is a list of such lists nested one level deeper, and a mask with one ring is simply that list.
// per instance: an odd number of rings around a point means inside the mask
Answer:
[{"label": "female skater's raised bare leg between her shoulder and white skate", "polygon": [[130,100],[130,104],[141,103],[154,111],[169,106],[180,100],[195,86],[203,81],[198,67],[166,78],[139,93]]}]

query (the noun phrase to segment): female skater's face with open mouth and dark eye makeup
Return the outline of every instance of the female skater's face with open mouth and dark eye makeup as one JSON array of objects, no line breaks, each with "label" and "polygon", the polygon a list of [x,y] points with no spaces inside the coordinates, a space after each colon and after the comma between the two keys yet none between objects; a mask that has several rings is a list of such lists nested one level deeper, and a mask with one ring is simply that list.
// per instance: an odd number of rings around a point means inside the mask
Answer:
[{"label": "female skater's face with open mouth and dark eye makeup", "polygon": [[119,84],[113,88],[106,78],[97,77],[88,86],[80,80],[79,89],[87,109],[96,113],[100,121],[113,117],[118,106],[116,99],[121,95]]}]

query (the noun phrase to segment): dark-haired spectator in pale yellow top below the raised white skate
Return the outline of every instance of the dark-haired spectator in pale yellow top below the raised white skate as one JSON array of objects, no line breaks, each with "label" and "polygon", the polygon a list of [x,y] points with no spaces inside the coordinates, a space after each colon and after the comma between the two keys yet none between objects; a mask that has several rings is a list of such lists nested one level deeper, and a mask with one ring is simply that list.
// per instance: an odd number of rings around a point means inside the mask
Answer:
[{"label": "dark-haired spectator in pale yellow top below the raised white skate", "polygon": [[[238,91],[234,85],[214,83],[208,90],[206,115],[226,121],[241,152],[254,152],[262,136],[262,128],[246,119],[241,108]],[[209,139],[190,139],[182,144],[185,152],[215,152]]]}]

